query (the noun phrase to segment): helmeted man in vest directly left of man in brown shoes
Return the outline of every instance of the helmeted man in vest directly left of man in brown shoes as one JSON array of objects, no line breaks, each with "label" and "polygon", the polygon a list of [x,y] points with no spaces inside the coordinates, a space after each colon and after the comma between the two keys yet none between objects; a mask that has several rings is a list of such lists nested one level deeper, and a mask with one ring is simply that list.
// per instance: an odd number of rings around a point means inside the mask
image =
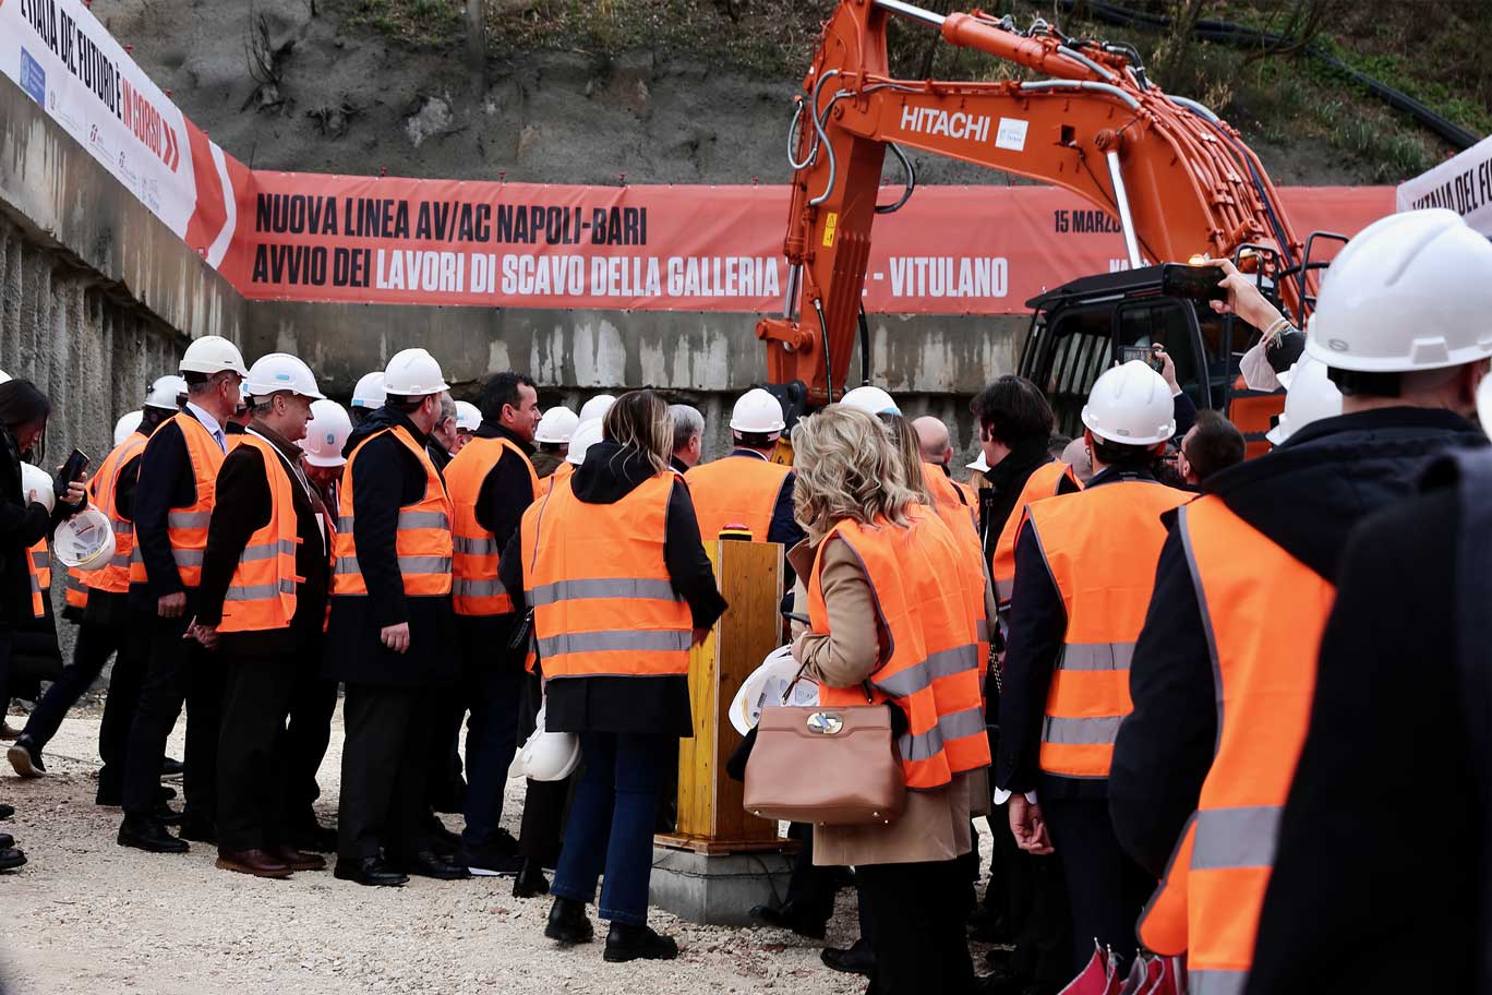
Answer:
[{"label": "helmeted man in vest directly left of man in brown shoes", "polygon": [[[186,840],[215,843],[218,725],[224,670],[201,644],[185,640],[197,613],[207,522],[218,470],[228,452],[228,418],[239,409],[248,370],[227,339],[204,336],[182,355],[186,403],[152,434],[134,485],[130,603],[148,631],[149,664],[130,728],[119,844],[185,853]],[[186,773],[181,838],[157,819],[161,753],[186,706]]]}]

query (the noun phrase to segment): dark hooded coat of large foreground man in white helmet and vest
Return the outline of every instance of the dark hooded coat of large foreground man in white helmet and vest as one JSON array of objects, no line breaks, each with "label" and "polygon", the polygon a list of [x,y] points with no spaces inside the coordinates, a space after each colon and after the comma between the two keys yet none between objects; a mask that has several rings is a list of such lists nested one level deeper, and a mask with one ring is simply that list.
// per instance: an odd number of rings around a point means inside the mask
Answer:
[{"label": "dark hooded coat of large foreground man in white helmet and vest", "polygon": [[[1413,492],[1429,458],[1486,445],[1444,410],[1388,407],[1328,418],[1274,452],[1209,477],[1203,489],[1335,582],[1352,528]],[[1134,712],[1119,726],[1109,813],[1120,844],[1161,876],[1197,809],[1217,741],[1212,655],[1174,515],[1129,670]],[[1267,625],[1268,619],[1259,619]]]}]

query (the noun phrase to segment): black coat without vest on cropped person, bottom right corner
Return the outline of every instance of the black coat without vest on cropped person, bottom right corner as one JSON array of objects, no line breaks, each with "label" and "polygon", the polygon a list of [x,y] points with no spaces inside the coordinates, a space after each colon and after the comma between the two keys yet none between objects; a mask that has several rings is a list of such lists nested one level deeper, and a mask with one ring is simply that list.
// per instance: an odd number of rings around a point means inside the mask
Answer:
[{"label": "black coat without vest on cropped person, bottom right corner", "polygon": [[[1486,500],[1480,494],[1480,500]],[[1456,674],[1470,549],[1447,486],[1365,519],[1341,556],[1310,734],[1280,820],[1252,995],[1474,992],[1483,788]],[[1477,603],[1486,631],[1492,585]],[[1482,665],[1492,661],[1480,644]]]}]

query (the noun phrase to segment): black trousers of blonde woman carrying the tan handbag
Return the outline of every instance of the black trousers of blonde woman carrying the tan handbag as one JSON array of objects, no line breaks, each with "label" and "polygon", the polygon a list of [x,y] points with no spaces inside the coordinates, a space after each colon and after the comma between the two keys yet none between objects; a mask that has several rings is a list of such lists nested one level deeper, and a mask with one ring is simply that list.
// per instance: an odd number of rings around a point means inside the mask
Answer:
[{"label": "black trousers of blonde woman carrying the tan handbag", "polygon": [[876,952],[868,995],[970,995],[967,879],[958,861],[855,868],[861,931]]}]

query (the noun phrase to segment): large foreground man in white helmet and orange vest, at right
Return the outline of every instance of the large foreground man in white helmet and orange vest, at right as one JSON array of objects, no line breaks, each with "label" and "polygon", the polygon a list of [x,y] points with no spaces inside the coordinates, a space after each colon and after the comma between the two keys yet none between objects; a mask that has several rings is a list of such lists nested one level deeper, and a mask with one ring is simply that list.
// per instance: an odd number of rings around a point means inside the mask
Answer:
[{"label": "large foreground man in white helmet and orange vest, at right", "polygon": [[[1228,307],[1256,328],[1288,325],[1223,270]],[[1485,445],[1468,418],[1492,355],[1489,313],[1492,245],[1458,215],[1368,225],[1326,271],[1306,336],[1343,413],[1210,477],[1170,524],[1110,814],[1125,849],[1164,874],[1140,940],[1186,953],[1197,995],[1247,988],[1350,530],[1408,495],[1437,453]]]}]

